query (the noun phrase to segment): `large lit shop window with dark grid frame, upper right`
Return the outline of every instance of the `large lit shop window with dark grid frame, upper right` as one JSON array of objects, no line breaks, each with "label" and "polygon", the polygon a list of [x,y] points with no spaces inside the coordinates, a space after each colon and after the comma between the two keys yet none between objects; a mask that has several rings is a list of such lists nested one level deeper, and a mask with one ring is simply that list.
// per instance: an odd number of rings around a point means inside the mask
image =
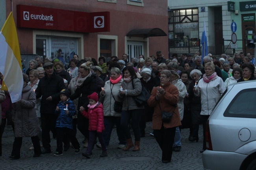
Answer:
[{"label": "large lit shop window with dark grid frame, upper right", "polygon": [[[169,41],[170,46],[188,46],[188,38],[199,40],[198,9],[174,9],[169,10]],[[182,41],[178,41],[182,40]],[[195,44],[197,45],[197,44]]]}]

